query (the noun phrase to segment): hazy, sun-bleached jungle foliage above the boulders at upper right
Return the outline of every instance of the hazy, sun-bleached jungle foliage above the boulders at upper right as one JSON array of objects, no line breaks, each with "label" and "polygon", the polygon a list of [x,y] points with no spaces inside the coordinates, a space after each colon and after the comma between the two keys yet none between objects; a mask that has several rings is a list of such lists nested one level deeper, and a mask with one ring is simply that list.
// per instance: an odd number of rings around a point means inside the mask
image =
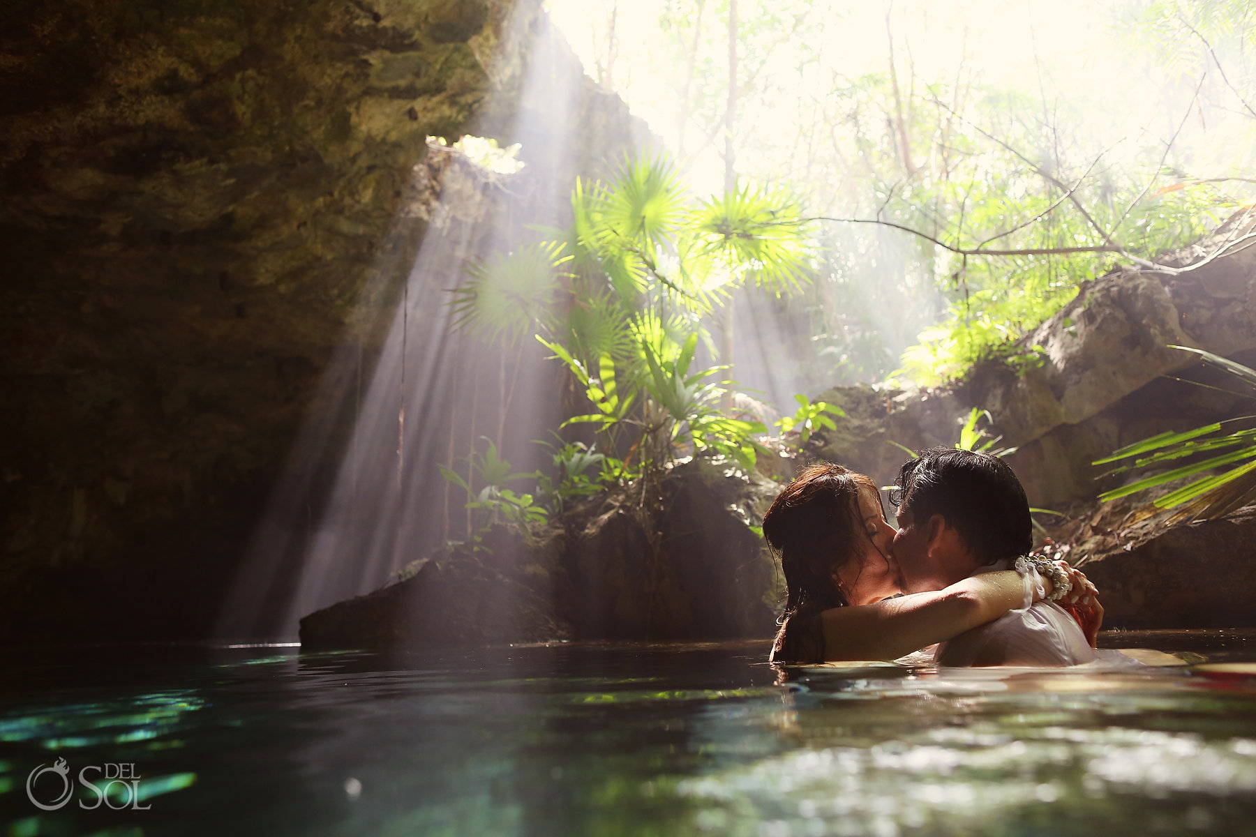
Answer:
[{"label": "hazy, sun-bleached jungle foliage above the boulders at upper right", "polygon": [[[708,164],[731,133],[726,166],[735,156],[742,173],[798,184],[824,218],[818,281],[786,306],[810,351],[772,359],[796,369],[799,389],[891,375],[933,385],[987,358],[1024,369],[1036,353],[1019,341],[1081,282],[1118,265],[1154,269],[1252,200],[1251,4],[1093,8],[1103,55],[1075,60],[1037,40],[1041,21],[1022,6],[992,4],[1021,21],[1032,55],[1021,75],[983,67],[985,21],[951,20],[962,15],[943,5],[668,0],[641,50],[668,85],[682,166]],[[730,129],[731,15],[737,118],[772,131]],[[852,31],[869,41],[852,51],[874,54],[880,39],[879,67],[850,72],[834,44]],[[943,31],[953,43],[936,43]],[[607,54],[622,68],[627,51]],[[1076,61],[1095,64],[1089,84]]]}]

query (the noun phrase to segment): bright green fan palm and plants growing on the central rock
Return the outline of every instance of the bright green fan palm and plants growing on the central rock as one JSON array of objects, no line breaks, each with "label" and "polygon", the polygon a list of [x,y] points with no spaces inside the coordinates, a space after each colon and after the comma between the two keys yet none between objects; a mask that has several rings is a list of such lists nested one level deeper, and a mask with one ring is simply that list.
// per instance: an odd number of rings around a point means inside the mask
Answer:
[{"label": "bright green fan palm and plants growing on the central rock", "polygon": [[[571,217],[566,228],[538,230],[540,241],[468,265],[451,300],[457,325],[489,341],[543,344],[579,394],[559,429],[593,430],[592,443],[559,439],[553,476],[499,474],[509,467],[491,442],[472,454],[486,486],[479,492],[442,468],[492,520],[539,520],[531,494],[501,487],[515,478],[535,481],[560,508],[677,457],[754,468],[766,427],[730,408],[736,383],[726,365],[700,361],[717,354],[706,323],[741,285],[788,294],[814,270],[808,225],[788,195],[742,186],[692,200],[663,156],[628,158],[608,182],[578,181]],[[829,420],[823,412],[804,420]]]}]

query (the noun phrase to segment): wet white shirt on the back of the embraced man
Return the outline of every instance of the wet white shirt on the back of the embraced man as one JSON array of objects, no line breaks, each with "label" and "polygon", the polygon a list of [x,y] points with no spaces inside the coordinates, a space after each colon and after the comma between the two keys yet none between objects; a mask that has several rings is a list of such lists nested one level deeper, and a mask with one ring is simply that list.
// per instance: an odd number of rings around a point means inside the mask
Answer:
[{"label": "wet white shirt on the back of the embraced man", "polygon": [[[1010,568],[1010,561],[981,567],[980,572]],[[1011,610],[971,631],[939,642],[934,651],[937,665],[1022,665],[1061,666],[1093,663],[1098,655],[1076,620],[1051,601],[1034,601],[1035,587],[1041,591],[1037,571],[1021,572],[1025,600]],[[1041,595],[1041,592],[1039,594]]]}]

